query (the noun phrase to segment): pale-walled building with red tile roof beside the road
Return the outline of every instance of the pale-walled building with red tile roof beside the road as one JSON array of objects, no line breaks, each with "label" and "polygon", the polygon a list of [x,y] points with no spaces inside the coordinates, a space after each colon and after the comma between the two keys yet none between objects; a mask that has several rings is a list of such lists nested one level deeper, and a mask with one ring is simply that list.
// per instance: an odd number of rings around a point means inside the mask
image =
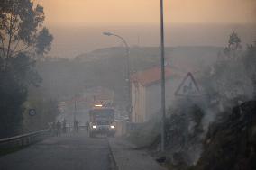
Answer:
[{"label": "pale-walled building with red tile roof beside the road", "polygon": [[[174,93],[181,83],[184,74],[165,68],[166,106],[175,98]],[[137,72],[131,77],[132,83],[132,121],[145,122],[160,112],[160,67],[153,67]]]}]

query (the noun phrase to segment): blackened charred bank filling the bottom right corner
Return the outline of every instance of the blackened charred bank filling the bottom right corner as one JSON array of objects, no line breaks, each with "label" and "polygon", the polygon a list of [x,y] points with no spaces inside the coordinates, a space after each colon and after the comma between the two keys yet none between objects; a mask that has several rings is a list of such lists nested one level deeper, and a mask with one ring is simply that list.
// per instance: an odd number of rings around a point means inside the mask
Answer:
[{"label": "blackened charred bank filling the bottom right corner", "polygon": [[256,101],[250,101],[210,125],[201,157],[189,170],[252,170],[255,160]]}]

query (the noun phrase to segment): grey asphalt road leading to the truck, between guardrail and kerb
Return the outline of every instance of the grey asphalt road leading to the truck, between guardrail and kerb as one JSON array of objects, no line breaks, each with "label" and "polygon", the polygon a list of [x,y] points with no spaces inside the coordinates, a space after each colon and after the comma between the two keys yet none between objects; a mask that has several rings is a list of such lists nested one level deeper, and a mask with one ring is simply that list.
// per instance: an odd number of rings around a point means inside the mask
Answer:
[{"label": "grey asphalt road leading to the truck, between guardrail and kerb", "polygon": [[112,170],[106,138],[52,137],[0,157],[0,170]]}]

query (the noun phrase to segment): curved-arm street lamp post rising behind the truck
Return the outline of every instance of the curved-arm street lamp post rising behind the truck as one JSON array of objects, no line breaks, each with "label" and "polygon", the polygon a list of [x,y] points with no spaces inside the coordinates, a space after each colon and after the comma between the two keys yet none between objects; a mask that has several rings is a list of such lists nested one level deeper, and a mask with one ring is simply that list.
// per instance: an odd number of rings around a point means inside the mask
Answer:
[{"label": "curved-arm street lamp post rising behind the truck", "polygon": [[114,34],[112,32],[103,32],[103,35],[105,36],[114,36],[117,37],[118,39],[123,41],[123,44],[125,46],[125,53],[126,53],[126,64],[127,64],[127,83],[128,83],[128,106],[127,110],[129,113],[129,120],[131,121],[132,118],[132,102],[131,102],[131,81],[130,81],[130,61],[129,61],[129,54],[130,54],[130,48],[126,42],[126,40],[123,39],[120,35]]}]

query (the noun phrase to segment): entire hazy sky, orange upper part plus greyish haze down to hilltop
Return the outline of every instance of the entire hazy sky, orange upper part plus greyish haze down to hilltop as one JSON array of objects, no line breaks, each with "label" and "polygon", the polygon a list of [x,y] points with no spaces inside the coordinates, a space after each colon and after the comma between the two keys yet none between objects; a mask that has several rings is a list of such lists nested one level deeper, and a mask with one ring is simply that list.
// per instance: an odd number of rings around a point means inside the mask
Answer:
[{"label": "entire hazy sky, orange upper part plus greyish haze down to hilltop", "polygon": [[[50,55],[73,58],[121,45],[120,40],[103,36],[103,31],[122,35],[131,46],[160,44],[160,0],[33,1],[44,7],[46,26],[54,36]],[[232,31],[244,44],[255,40],[255,26],[241,25],[256,23],[256,0],[164,0],[164,4],[166,46],[224,46]]]}]

